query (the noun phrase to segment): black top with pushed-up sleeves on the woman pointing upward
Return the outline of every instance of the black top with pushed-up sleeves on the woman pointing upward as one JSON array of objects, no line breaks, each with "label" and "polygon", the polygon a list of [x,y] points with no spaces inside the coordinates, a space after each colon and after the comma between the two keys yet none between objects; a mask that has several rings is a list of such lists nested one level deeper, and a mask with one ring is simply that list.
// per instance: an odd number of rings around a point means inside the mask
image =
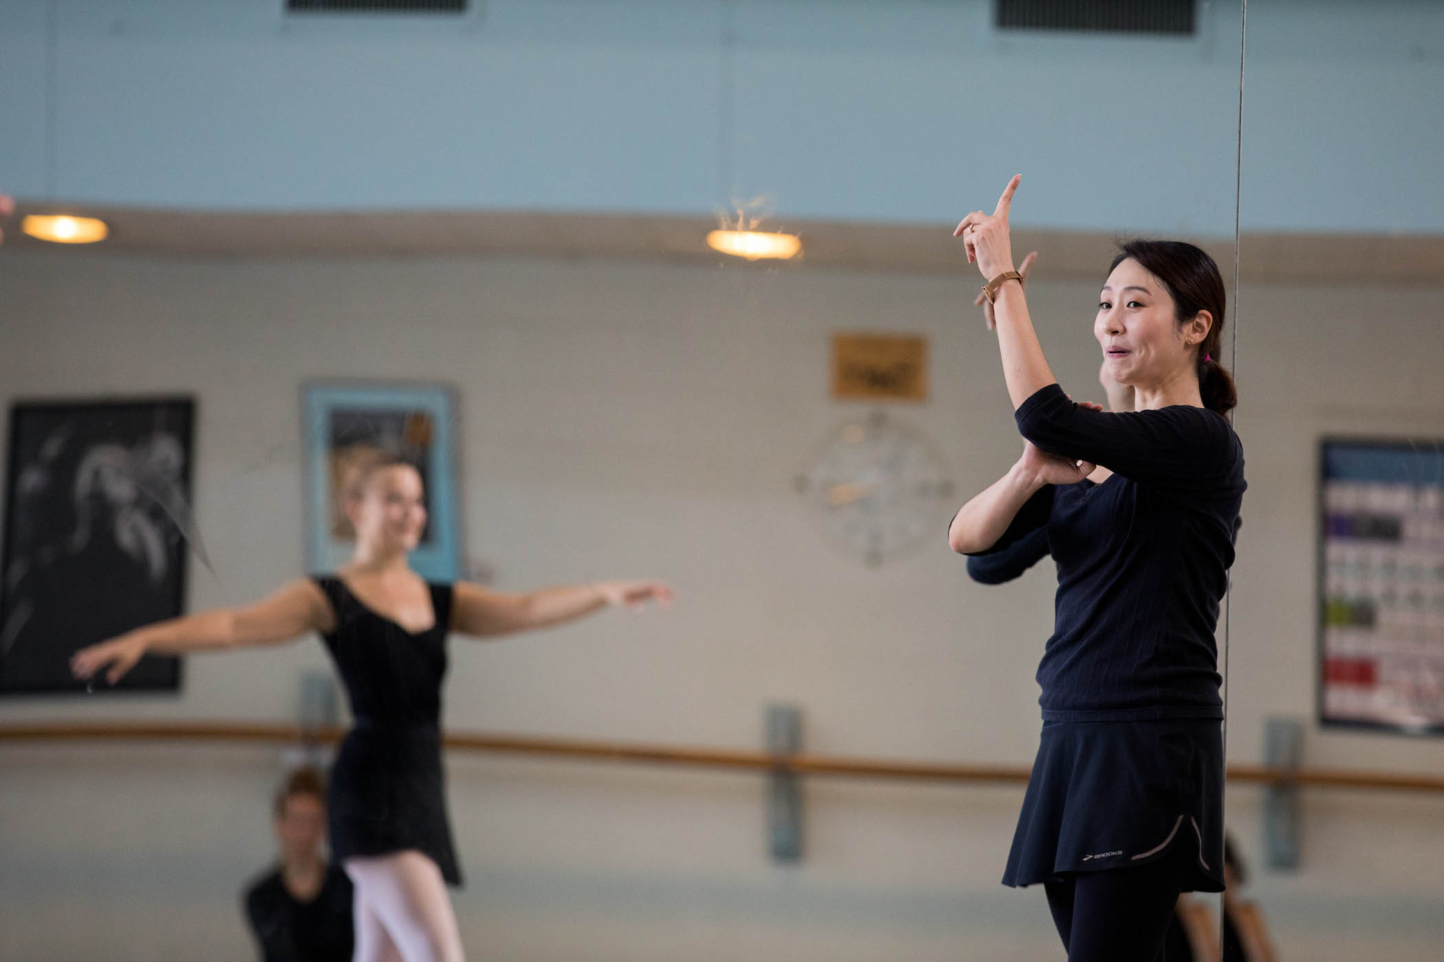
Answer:
[{"label": "black top with pushed-up sleeves on the woman pointing upward", "polygon": [[1040,449],[1113,472],[1043,487],[978,552],[1047,532],[1058,590],[1037,675],[1044,720],[1222,718],[1213,632],[1248,486],[1233,428],[1188,405],[1092,411],[1056,384],[1015,418]]}]

